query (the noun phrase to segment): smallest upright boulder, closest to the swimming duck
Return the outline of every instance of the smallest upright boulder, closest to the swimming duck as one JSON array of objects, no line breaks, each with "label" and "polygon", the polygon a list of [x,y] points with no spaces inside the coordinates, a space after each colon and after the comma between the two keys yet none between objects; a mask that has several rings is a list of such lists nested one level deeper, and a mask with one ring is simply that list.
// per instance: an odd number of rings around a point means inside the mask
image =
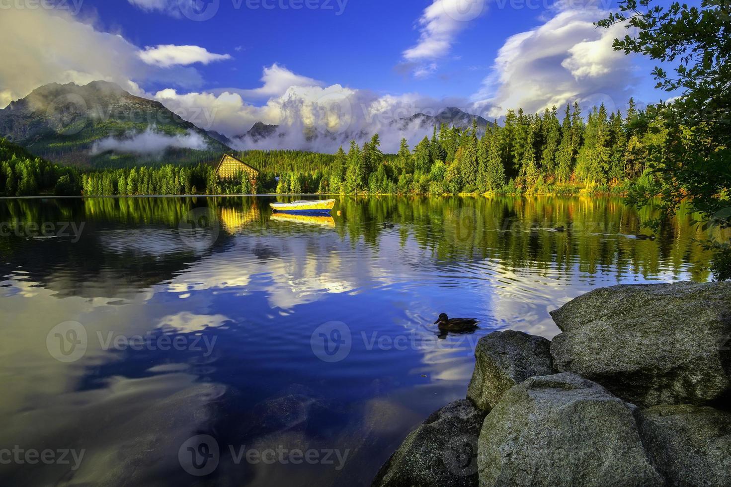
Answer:
[{"label": "smallest upright boulder, closest to the swimming duck", "polygon": [[477,342],[467,397],[489,412],[512,386],[553,372],[550,341],[522,331],[493,331]]}]

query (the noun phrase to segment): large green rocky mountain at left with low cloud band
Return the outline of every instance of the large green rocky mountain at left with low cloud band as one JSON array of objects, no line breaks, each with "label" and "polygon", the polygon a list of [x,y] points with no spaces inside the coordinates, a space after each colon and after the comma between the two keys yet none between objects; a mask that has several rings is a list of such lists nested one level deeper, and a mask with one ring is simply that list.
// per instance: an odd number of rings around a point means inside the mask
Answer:
[{"label": "large green rocky mountain at left with low cloud band", "polygon": [[37,156],[93,167],[203,162],[230,150],[162,103],[105,81],[35,89],[0,110],[0,136]]}]

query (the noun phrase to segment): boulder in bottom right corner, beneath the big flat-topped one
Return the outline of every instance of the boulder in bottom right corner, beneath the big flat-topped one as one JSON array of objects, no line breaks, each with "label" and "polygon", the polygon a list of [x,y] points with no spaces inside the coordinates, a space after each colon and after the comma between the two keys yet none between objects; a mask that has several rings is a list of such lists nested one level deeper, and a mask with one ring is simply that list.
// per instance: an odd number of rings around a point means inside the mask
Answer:
[{"label": "boulder in bottom right corner, beneath the big flat-topped one", "polygon": [[655,406],[640,413],[640,434],[668,486],[731,486],[731,413]]}]

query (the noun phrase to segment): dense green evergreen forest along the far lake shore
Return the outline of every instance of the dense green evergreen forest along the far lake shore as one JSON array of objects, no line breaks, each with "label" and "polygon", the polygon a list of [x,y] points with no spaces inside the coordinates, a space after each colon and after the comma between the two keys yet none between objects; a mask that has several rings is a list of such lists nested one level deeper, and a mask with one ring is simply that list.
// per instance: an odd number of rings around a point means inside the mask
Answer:
[{"label": "dense green evergreen forest along the far lake shore", "polygon": [[[645,173],[648,146],[662,144],[629,100],[626,114],[594,107],[585,119],[578,103],[561,118],[556,107],[532,115],[508,110],[501,127],[480,133],[434,127],[415,147],[401,141],[383,154],[379,135],[346,151],[244,151],[240,159],[261,171],[217,181],[213,165],[159,165],[83,171],[37,159],[3,141],[0,191],[4,195],[183,195],[249,193],[443,194],[622,193]],[[645,178],[648,178],[645,175]]]}]

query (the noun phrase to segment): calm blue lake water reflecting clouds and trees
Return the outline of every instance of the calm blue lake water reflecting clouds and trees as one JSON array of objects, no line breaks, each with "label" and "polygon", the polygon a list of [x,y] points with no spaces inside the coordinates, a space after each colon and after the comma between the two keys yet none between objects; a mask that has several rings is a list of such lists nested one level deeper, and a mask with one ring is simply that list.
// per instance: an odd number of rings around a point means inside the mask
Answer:
[{"label": "calm blue lake water reflecting clouds and trees", "polygon": [[[594,287],[711,278],[689,216],[637,238],[619,198],[271,214],[293,199],[0,200],[0,484],[367,486],[465,396],[480,336],[550,338]],[[438,336],[440,312],[480,329]]]}]

